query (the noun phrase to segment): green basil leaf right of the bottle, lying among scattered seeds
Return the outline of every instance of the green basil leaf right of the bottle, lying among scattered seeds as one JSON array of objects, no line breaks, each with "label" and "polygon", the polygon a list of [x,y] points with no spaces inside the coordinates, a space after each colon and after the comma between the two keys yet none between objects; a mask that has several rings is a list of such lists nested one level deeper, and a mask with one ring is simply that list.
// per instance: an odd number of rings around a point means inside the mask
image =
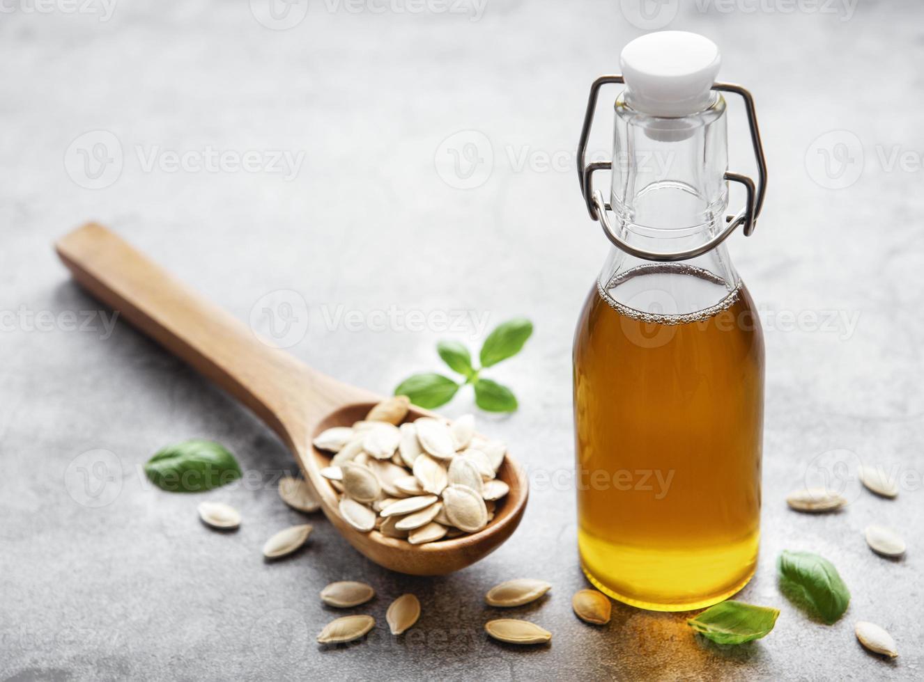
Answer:
[{"label": "green basil leaf right of the bottle, lying among scattered seeds", "polygon": [[776,568],[783,592],[797,604],[808,604],[828,625],[844,615],[850,591],[828,559],[811,552],[784,550]]}]

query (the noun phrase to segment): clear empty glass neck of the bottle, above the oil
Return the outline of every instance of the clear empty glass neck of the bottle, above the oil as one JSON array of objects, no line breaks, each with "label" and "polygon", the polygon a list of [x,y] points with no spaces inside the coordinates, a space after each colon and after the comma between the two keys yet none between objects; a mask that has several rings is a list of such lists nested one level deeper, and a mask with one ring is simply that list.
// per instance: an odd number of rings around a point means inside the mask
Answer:
[{"label": "clear empty glass neck of the bottle, above the oil", "polygon": [[[615,103],[614,229],[630,245],[655,253],[705,244],[723,229],[728,205],[723,98],[681,118],[641,114],[630,104],[625,93]],[[679,316],[719,305],[737,286],[724,245],[674,263],[652,263],[614,247],[600,279],[602,293],[620,305],[644,305],[650,295],[639,292],[654,287],[661,312]]]}]

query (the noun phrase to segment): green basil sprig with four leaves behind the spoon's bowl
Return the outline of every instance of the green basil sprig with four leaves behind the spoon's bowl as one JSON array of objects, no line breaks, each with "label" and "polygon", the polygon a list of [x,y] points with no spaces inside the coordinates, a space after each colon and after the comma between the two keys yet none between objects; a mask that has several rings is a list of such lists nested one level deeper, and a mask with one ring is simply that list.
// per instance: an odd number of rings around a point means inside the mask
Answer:
[{"label": "green basil sprig with four leaves behind the spoon's bowl", "polygon": [[497,365],[519,353],[531,334],[532,322],[525,317],[516,317],[498,325],[481,345],[480,368],[472,365],[471,353],[465,344],[440,341],[436,352],[464,380],[459,383],[435,372],[415,374],[398,384],[395,395],[405,395],[415,405],[431,409],[451,401],[458,389],[471,384],[475,389],[475,404],[485,412],[514,412],[518,407],[514,392],[480,374],[483,368]]}]

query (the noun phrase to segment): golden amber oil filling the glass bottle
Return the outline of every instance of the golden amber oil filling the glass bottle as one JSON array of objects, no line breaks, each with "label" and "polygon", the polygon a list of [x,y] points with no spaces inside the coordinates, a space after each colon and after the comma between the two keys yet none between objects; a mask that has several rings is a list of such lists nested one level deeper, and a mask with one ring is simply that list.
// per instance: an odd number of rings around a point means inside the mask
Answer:
[{"label": "golden amber oil filling the glass bottle", "polygon": [[[694,290],[723,285],[675,264],[643,266],[620,281],[674,297],[691,281]],[[656,305],[617,303],[598,286],[577,325],[581,565],[602,592],[627,604],[699,608],[754,573],[763,341],[743,284],[717,300],[664,315],[641,312]]]}]

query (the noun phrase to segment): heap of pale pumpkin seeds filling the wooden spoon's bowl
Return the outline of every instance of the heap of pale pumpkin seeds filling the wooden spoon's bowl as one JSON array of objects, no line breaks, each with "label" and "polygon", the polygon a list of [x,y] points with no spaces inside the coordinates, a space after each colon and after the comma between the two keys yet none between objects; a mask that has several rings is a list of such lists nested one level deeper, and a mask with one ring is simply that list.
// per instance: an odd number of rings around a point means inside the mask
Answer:
[{"label": "heap of pale pumpkin seeds filling the wooden spoon's bowl", "polygon": [[509,487],[498,479],[506,446],[475,433],[475,417],[453,422],[420,417],[395,396],[352,426],[314,438],[333,453],[321,470],[336,491],[340,515],[359,532],[381,532],[410,544],[479,532]]}]

